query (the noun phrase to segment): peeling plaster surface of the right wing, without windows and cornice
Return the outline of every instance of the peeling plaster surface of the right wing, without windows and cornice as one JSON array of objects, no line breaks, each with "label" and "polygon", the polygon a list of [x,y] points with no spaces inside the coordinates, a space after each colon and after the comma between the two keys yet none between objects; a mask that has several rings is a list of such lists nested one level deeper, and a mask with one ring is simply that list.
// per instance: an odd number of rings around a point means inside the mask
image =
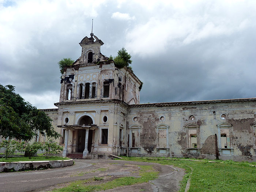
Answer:
[{"label": "peeling plaster surface of the right wing, without windows and cornice", "polygon": [[[227,126],[221,128],[229,131],[230,149],[222,149],[220,158],[223,156],[223,158],[241,159],[241,156],[245,156],[244,159],[256,160],[255,128],[252,127],[256,122],[255,102],[223,102],[193,104],[193,106],[158,106],[158,104],[161,103],[147,106],[131,105],[128,108],[127,125],[134,124],[141,127],[140,155],[160,155],[157,150],[159,145],[157,126],[163,123],[169,126],[167,155],[216,158],[215,134],[220,137],[217,125],[221,124],[220,126]],[[222,119],[221,114],[225,114],[226,119]],[[194,116],[193,120],[189,118],[191,115]],[[164,121],[159,119],[161,116],[165,117]],[[136,121],[134,121],[135,117]],[[196,130],[197,148],[189,148],[188,129]],[[218,148],[221,150],[220,143]]]}]

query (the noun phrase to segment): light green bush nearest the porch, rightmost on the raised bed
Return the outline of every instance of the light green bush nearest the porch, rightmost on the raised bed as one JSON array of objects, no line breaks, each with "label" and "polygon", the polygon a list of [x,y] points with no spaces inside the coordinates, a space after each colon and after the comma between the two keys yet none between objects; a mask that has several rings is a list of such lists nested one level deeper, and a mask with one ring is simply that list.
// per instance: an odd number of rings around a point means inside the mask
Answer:
[{"label": "light green bush nearest the porch, rightmost on the raised bed", "polygon": [[52,139],[49,142],[46,142],[42,146],[43,154],[46,158],[52,157],[53,154],[58,154],[63,151],[63,147],[59,146],[57,143],[53,142]]}]

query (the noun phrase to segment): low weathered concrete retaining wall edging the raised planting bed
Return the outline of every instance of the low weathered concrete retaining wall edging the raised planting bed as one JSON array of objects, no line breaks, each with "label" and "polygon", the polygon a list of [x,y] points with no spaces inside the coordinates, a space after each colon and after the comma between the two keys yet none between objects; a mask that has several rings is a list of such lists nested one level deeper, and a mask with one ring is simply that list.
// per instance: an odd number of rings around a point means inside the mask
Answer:
[{"label": "low weathered concrete retaining wall edging the raised planting bed", "polygon": [[31,169],[60,168],[73,165],[73,159],[57,161],[0,162],[0,172],[24,171]]}]

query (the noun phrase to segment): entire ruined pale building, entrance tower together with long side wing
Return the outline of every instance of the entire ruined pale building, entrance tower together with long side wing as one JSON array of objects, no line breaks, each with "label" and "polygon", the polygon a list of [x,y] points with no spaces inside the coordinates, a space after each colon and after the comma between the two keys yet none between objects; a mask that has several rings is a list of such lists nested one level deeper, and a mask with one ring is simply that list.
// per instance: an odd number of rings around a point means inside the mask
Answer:
[{"label": "entire ruined pale building, entrance tower together with long side wing", "polygon": [[[139,104],[142,82],[100,52],[93,33],[65,68],[59,109],[44,109],[63,156],[199,157],[256,161],[256,98]],[[100,155],[99,155],[100,154]]]}]

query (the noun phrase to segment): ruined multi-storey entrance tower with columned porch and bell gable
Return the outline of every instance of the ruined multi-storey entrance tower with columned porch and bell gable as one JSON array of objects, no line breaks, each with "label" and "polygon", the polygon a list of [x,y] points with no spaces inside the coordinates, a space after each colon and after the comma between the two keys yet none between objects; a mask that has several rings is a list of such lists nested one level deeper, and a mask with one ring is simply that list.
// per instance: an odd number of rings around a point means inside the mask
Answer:
[{"label": "ruined multi-storey entrance tower with columned porch and bell gable", "polygon": [[118,69],[101,54],[104,43],[93,33],[79,43],[81,56],[64,69],[61,79],[58,127],[65,144],[63,156],[83,153],[126,154],[126,116],[129,104],[139,104],[142,82],[131,69]]}]

